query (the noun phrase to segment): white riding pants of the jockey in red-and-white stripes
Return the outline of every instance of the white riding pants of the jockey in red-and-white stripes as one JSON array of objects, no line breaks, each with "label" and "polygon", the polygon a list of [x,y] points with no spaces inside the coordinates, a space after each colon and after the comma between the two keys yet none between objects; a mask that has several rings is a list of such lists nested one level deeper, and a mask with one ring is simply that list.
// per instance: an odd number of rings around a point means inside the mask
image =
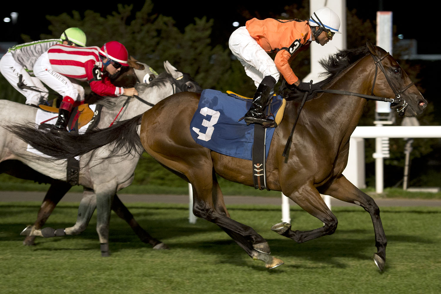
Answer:
[{"label": "white riding pants of the jockey in red-and-white stripes", "polygon": [[84,100],[84,88],[76,80],[52,70],[48,52],[38,57],[34,64],[34,74],[41,82],[44,82],[61,96],[69,96],[75,101]]}]

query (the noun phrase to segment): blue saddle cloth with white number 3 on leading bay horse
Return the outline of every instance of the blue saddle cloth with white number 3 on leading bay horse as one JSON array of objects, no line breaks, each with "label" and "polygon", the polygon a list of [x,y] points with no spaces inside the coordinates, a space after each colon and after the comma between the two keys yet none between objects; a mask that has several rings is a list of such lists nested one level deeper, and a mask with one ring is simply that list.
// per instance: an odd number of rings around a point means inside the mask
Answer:
[{"label": "blue saddle cloth with white number 3 on leading bay horse", "polygon": [[[194,141],[217,153],[252,160],[254,124],[238,121],[248,111],[252,99],[231,97],[220,91],[205,89],[201,93],[198,110],[190,123]],[[273,96],[270,107],[274,115],[284,104],[280,96]],[[274,134],[273,127],[265,129],[265,158]]]}]

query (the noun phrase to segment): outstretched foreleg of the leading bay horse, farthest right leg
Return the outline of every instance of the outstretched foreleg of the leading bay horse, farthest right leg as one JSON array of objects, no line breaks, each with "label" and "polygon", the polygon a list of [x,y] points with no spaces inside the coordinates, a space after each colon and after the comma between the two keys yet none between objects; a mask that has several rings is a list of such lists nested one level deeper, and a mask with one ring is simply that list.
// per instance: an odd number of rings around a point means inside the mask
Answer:
[{"label": "outstretched foreleg of the leading bay horse, farthest right leg", "polygon": [[354,203],[363,207],[370,214],[375,232],[375,246],[377,253],[374,253],[374,261],[378,269],[382,272],[386,260],[386,245],[387,239],[383,224],[380,219],[380,208],[375,203],[374,199],[369,195],[360,191],[343,175],[336,178],[322,194],[330,195],[336,199]]}]

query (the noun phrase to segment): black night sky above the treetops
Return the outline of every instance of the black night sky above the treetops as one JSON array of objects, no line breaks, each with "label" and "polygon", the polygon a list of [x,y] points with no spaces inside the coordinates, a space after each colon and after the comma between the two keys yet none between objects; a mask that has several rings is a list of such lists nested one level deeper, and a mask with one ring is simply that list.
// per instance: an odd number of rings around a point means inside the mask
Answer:
[{"label": "black night sky above the treetops", "polygon": [[[110,14],[117,10],[117,5],[120,1],[106,1],[103,4],[100,1],[75,1],[75,5],[67,6],[61,4],[60,1],[34,1],[32,3],[17,4],[10,3],[10,8],[3,9],[0,13],[1,31],[4,32],[0,36],[0,41],[14,41],[14,38],[20,33],[30,35],[34,40],[39,39],[40,33],[50,33],[47,30],[49,22],[45,19],[45,15],[59,15],[63,12],[70,13],[72,10],[85,11],[93,10],[100,11],[101,15]],[[136,1],[134,11],[142,7],[143,1]],[[156,2],[156,3],[155,3]],[[42,5],[44,3],[44,6]],[[215,30],[222,30],[221,35],[229,35],[234,30],[232,21],[238,20],[241,25],[244,24],[245,19],[241,19],[239,10],[241,7],[250,11],[261,12],[262,18],[269,17],[265,11],[273,11],[274,13],[283,12],[284,3],[271,4],[261,1],[232,1],[224,0],[215,3],[214,8],[207,8],[207,5],[200,6],[196,1],[174,1],[173,4],[169,1],[153,1],[154,11],[163,15],[172,16],[176,20],[177,26],[186,26],[193,22],[194,17],[201,18],[206,15],[209,19],[215,20]],[[398,0],[375,0],[375,1],[360,1],[347,0],[347,7],[351,10],[357,9],[357,14],[362,19],[375,20],[376,11],[382,7],[384,11],[393,11],[393,22],[397,26],[397,33],[404,34],[405,38],[415,38],[418,40],[419,53],[438,54],[440,50],[437,46],[430,43],[430,33],[434,30],[427,30],[426,24],[422,20],[427,19],[427,11],[430,9],[428,0],[422,0],[415,3],[412,7],[405,6],[403,1]],[[19,13],[18,25],[15,28],[18,31],[12,30],[12,23],[4,23],[4,17],[8,17],[11,11]],[[436,16],[433,16],[436,19]],[[350,38],[350,36],[348,36]]]}]

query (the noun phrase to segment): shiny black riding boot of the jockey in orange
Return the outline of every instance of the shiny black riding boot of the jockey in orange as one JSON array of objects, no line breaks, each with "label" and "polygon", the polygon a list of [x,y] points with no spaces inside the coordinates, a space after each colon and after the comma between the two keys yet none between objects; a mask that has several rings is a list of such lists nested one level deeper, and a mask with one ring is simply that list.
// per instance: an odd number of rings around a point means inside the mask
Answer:
[{"label": "shiny black riding boot of the jockey in orange", "polygon": [[263,114],[263,110],[265,109],[269,94],[275,83],[276,80],[272,76],[266,76],[263,78],[254,94],[253,104],[251,105],[250,110],[245,114],[244,120],[247,124],[259,123],[261,125],[267,125],[274,122]]}]

